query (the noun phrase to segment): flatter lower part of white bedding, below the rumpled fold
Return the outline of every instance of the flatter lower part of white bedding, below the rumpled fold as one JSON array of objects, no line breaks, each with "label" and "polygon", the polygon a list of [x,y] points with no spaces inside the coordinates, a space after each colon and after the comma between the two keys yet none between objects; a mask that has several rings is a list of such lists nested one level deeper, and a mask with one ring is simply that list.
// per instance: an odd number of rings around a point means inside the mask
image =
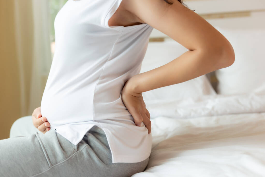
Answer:
[{"label": "flatter lower part of white bedding, below the rumpled fold", "polygon": [[144,176],[265,176],[265,113],[152,119]]}]

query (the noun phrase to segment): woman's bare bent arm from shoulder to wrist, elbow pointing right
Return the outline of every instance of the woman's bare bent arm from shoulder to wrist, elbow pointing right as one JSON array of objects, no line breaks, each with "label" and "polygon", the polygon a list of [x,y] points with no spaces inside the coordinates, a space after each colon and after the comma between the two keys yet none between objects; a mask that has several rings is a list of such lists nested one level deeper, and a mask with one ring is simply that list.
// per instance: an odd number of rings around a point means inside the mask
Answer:
[{"label": "woman's bare bent arm from shoulder to wrist, elbow pointing right", "polygon": [[235,61],[230,42],[180,2],[170,0],[173,4],[169,5],[164,0],[123,1],[126,10],[189,49],[163,66],[131,77],[128,88],[132,95],[191,80]]}]

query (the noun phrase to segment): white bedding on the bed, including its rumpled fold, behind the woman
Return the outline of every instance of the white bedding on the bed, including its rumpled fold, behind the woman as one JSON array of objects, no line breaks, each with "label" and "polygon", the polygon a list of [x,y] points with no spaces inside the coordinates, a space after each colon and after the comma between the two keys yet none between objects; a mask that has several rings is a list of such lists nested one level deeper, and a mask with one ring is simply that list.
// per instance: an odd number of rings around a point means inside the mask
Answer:
[{"label": "white bedding on the bed, including its rumpled fold, behind the woman", "polygon": [[265,94],[146,103],[153,145],[144,176],[265,176]]}]

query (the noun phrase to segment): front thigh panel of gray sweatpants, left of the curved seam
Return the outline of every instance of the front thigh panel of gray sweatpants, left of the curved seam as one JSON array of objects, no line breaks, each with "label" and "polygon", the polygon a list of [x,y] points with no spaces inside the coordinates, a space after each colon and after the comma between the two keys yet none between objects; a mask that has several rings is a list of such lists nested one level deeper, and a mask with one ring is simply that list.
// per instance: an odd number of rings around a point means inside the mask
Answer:
[{"label": "front thigh panel of gray sweatpants, left of the curved seam", "polygon": [[71,156],[76,147],[55,129],[0,140],[0,176],[33,176]]}]

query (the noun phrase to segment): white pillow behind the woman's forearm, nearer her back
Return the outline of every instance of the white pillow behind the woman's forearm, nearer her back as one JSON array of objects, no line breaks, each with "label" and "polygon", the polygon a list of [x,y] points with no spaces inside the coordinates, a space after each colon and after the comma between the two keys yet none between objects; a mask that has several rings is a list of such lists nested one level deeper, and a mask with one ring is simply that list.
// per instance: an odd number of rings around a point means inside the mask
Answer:
[{"label": "white pillow behind the woman's forearm, nearer her back", "polygon": [[[176,41],[149,42],[140,73],[150,71],[178,58],[188,51]],[[144,101],[180,100],[200,95],[216,95],[206,75],[142,93]]]}]

